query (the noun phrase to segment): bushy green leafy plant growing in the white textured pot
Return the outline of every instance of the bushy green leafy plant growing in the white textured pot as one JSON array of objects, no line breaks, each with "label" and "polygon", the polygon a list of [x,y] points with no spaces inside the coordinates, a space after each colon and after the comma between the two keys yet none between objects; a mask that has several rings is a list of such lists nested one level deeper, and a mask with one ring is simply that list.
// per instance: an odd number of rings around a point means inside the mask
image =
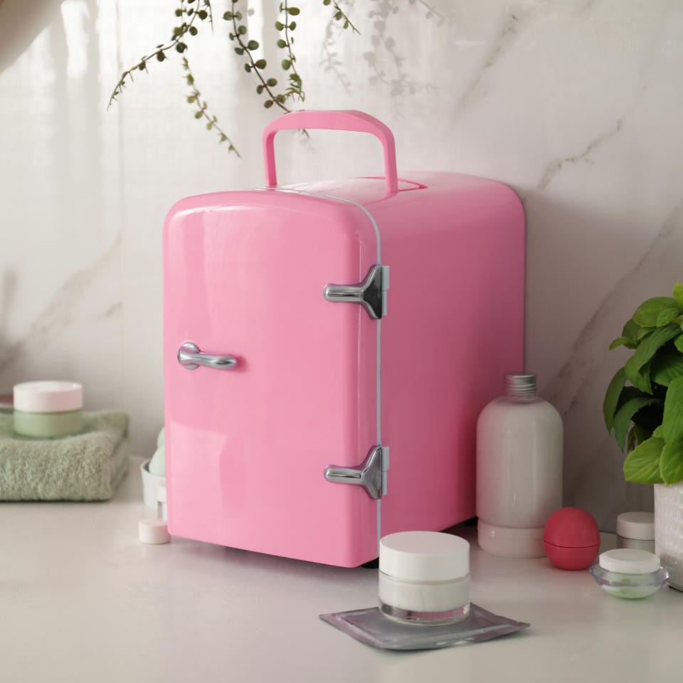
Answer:
[{"label": "bushy green leafy plant growing in the white textured pot", "polygon": [[683,285],[674,285],[673,297],[642,302],[610,349],[617,346],[633,354],[610,382],[603,413],[628,452],[625,478],[683,481]]}]

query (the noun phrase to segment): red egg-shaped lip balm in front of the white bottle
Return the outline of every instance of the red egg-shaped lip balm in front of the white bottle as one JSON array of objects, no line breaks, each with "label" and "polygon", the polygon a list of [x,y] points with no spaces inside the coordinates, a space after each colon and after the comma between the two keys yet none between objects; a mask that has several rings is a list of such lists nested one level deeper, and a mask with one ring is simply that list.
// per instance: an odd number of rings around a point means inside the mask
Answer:
[{"label": "red egg-shaped lip balm in front of the white bottle", "polygon": [[546,522],[543,547],[558,569],[585,569],[600,550],[598,523],[580,507],[563,507]]}]

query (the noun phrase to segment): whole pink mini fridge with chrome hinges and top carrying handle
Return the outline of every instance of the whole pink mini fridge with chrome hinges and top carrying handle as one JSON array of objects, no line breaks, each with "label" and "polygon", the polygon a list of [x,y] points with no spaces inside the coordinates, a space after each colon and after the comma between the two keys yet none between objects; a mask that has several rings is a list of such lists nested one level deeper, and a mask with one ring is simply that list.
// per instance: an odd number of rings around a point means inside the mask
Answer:
[{"label": "whole pink mini fridge with chrome hinges and top carrying handle", "polygon": [[[277,187],[284,128],[375,134],[385,176]],[[164,225],[171,534],[337,566],[475,515],[475,423],[522,368],[524,211],[509,187],[398,179],[361,112],[264,133],[267,187]]]}]

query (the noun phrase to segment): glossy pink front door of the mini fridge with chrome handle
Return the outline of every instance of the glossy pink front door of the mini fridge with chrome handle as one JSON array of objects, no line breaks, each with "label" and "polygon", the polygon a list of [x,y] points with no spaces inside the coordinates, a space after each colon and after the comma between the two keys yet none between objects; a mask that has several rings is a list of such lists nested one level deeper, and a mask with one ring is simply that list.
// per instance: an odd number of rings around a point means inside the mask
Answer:
[{"label": "glossy pink front door of the mini fridge with chrome handle", "polygon": [[263,190],[171,209],[171,534],[338,566],[376,557],[378,501],[324,478],[363,462],[378,435],[378,321],[324,288],[376,263],[375,228],[353,203]]}]

